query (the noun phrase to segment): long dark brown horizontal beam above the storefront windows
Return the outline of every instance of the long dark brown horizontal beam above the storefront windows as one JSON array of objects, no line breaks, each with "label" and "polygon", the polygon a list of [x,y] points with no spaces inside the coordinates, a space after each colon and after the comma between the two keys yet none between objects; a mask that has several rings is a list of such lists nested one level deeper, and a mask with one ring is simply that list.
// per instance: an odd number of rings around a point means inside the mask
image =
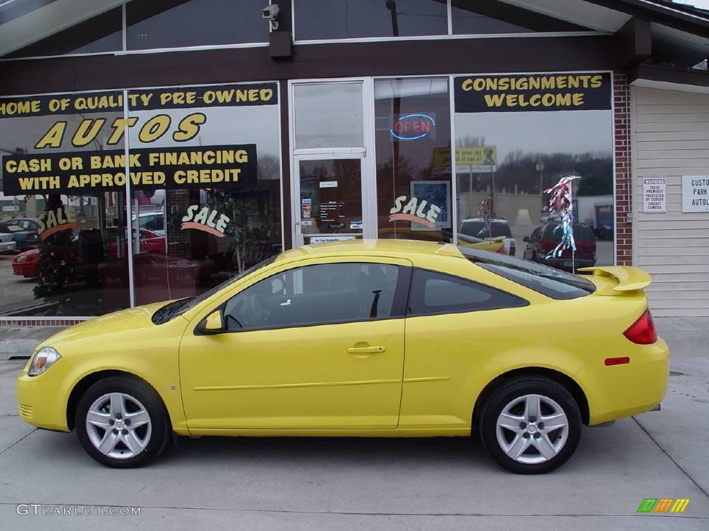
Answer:
[{"label": "long dark brown horizontal beam above the storefront windows", "polygon": [[50,57],[0,62],[0,96],[150,86],[623,67],[618,37],[471,38],[296,45],[288,60],[268,47]]}]

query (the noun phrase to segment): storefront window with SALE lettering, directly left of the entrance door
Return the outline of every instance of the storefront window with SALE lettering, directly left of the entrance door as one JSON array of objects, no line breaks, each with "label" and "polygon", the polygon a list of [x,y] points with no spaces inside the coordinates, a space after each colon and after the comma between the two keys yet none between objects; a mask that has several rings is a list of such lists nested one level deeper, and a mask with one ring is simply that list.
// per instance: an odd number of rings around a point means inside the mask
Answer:
[{"label": "storefront window with SALE lettering, directly left of the entrance door", "polygon": [[128,101],[136,304],[199,295],[282,250],[277,84]]}]

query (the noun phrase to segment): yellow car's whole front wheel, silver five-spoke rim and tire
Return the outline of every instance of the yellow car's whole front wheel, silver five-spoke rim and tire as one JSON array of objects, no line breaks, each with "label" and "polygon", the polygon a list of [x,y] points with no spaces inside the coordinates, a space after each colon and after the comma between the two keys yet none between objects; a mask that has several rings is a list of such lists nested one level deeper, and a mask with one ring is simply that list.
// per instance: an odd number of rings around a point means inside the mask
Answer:
[{"label": "yellow car's whole front wheel, silver five-spoke rim and tire", "polygon": [[84,450],[101,464],[134,468],[160,455],[170,426],[160,397],[143,382],[114,377],[79,399],[76,428]]}]

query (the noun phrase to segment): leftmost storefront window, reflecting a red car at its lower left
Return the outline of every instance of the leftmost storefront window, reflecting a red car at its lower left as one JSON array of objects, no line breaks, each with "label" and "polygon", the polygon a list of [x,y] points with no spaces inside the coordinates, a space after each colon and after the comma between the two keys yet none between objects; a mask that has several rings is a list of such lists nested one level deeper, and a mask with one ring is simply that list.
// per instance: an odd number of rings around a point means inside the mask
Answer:
[{"label": "leftmost storefront window, reflecting a red car at its lower left", "polygon": [[100,280],[106,263],[127,249],[125,174],[91,187],[104,180],[95,169],[104,156],[123,153],[123,138],[114,134],[122,98],[101,92],[0,101],[17,111],[0,118],[1,314],[92,316],[130,306],[127,281]]}]

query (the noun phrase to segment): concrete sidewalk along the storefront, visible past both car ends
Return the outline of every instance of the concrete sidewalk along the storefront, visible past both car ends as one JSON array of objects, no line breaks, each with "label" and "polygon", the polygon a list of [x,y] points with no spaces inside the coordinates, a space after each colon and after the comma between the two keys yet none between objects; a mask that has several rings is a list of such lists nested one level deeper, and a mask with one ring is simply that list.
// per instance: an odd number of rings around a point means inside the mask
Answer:
[{"label": "concrete sidewalk along the storefront, visible past both car ends", "polygon": [[[709,317],[656,317],[657,331],[674,349],[687,348],[709,356]],[[0,326],[0,360],[29,358],[45,339],[62,330],[61,326]],[[670,338],[673,341],[669,341]]]}]

